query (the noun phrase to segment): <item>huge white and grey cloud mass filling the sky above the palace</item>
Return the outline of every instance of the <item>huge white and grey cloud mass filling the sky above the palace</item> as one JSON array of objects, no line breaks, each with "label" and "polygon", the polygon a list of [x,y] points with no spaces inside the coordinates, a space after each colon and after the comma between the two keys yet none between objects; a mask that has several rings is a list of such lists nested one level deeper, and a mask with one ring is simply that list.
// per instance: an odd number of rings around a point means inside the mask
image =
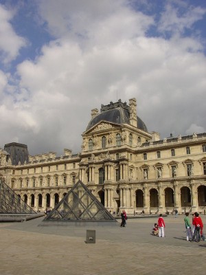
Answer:
[{"label": "huge white and grey cloud mass filling the sky above the palace", "polygon": [[[201,41],[176,32],[170,39],[146,36],[153,16],[131,10],[126,1],[40,3],[57,39],[43,45],[34,61],[19,64],[16,79],[0,72],[1,140],[18,137],[32,153],[59,153],[68,147],[76,153],[91,109],[133,97],[149,131],[162,137],[205,131],[206,58]],[[201,18],[201,12],[195,13],[199,15],[189,26]],[[179,17],[172,16],[168,25],[162,17],[163,30],[176,28]]]}]

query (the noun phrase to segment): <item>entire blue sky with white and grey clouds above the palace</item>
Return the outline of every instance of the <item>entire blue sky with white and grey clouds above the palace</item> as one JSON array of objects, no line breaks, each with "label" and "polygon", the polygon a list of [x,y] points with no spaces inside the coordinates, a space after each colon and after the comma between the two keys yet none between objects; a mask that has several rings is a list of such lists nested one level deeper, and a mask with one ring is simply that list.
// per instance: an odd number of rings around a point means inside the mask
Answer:
[{"label": "entire blue sky with white and grey clouds above the palace", "polygon": [[0,0],[0,147],[78,153],[130,98],[161,139],[204,133],[205,26],[205,0]]}]

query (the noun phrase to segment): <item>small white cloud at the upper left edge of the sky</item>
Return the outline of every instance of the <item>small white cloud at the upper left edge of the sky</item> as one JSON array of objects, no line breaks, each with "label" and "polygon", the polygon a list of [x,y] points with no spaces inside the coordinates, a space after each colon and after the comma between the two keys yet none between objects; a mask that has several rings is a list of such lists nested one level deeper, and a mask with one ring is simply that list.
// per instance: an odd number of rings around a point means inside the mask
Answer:
[{"label": "small white cloud at the upper left edge of the sky", "polygon": [[0,61],[3,63],[14,60],[21,47],[26,45],[25,39],[14,32],[10,23],[12,17],[13,13],[0,5]]}]

